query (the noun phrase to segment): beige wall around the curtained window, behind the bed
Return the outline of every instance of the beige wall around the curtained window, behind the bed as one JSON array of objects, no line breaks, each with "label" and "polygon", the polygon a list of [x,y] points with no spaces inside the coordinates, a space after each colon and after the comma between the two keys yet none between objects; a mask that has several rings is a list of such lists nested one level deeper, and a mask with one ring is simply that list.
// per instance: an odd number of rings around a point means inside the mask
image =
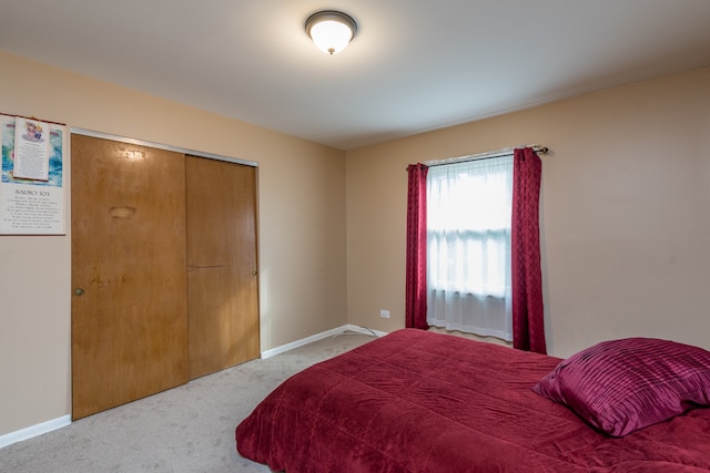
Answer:
[{"label": "beige wall around the curtained window, behind the bed", "polygon": [[404,327],[406,165],[526,143],[552,150],[548,351],[631,336],[710,349],[710,68],[348,152],[348,322]]}]

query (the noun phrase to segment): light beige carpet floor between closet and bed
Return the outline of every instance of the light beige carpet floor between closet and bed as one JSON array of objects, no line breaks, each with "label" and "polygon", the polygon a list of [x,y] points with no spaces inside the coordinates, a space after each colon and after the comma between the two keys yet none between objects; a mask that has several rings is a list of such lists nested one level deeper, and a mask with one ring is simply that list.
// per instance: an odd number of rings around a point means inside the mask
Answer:
[{"label": "light beige carpet floor between closet and bed", "polygon": [[268,473],[242,457],[234,429],[282,381],[373,337],[344,332],[0,449],[2,473]]}]

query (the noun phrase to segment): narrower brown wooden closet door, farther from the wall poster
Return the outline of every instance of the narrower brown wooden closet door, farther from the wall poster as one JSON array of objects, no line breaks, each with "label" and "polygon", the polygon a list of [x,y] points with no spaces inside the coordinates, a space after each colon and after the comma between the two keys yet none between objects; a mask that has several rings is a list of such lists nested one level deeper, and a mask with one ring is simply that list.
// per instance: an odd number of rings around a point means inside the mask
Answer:
[{"label": "narrower brown wooden closet door, farther from the wall poster", "polygon": [[258,358],[256,171],[186,157],[190,378]]}]

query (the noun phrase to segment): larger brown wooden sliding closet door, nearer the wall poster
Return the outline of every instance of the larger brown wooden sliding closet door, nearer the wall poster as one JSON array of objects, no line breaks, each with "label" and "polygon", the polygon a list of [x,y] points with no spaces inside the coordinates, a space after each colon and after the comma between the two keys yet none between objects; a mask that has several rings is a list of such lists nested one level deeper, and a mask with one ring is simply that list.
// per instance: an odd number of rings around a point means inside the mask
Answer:
[{"label": "larger brown wooden sliding closet door, nearer the wall poster", "polygon": [[71,138],[79,419],[187,381],[185,158]]}]

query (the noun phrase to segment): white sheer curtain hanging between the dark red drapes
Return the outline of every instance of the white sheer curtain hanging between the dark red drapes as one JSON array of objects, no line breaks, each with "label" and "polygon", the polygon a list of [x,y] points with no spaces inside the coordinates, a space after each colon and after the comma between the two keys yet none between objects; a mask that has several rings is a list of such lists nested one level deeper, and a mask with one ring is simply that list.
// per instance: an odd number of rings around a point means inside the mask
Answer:
[{"label": "white sheer curtain hanging between the dark red drapes", "polygon": [[427,175],[427,322],[513,340],[513,156]]}]

